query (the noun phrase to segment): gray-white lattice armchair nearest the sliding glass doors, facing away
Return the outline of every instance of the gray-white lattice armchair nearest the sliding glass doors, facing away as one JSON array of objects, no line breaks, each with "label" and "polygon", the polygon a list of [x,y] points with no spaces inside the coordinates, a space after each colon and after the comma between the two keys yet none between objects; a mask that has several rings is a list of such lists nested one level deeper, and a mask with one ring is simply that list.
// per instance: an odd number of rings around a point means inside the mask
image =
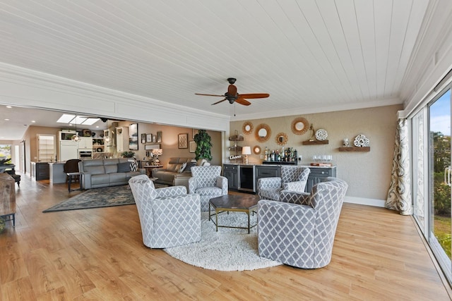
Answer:
[{"label": "gray-white lattice armchair nearest the sliding glass doors, facing away", "polygon": [[259,256],[303,269],[329,264],[347,188],[345,181],[327,178],[311,194],[287,192],[280,202],[261,199]]}]

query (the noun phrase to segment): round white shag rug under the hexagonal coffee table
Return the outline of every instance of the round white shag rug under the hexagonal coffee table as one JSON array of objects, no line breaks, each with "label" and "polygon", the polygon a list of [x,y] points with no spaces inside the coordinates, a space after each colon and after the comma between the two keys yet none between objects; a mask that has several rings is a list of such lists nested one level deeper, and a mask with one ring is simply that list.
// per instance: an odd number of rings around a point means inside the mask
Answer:
[{"label": "round white shag rug under the hexagonal coffee table", "polygon": [[[215,216],[212,216],[215,220]],[[257,215],[251,216],[251,225],[256,224]],[[246,227],[248,216],[244,212],[223,212],[218,215],[218,224]],[[218,271],[246,271],[278,266],[281,263],[259,257],[257,226],[246,229],[218,228],[208,220],[208,212],[201,213],[201,241],[179,247],[164,249],[172,257],[187,264]]]}]

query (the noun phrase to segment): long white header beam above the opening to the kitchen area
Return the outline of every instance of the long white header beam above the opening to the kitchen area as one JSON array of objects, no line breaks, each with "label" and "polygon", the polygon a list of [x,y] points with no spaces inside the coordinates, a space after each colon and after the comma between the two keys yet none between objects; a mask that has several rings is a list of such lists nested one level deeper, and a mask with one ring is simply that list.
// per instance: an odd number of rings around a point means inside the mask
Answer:
[{"label": "long white header beam above the opening to the kitchen area", "polygon": [[0,63],[0,102],[190,128],[227,130],[230,118]]}]

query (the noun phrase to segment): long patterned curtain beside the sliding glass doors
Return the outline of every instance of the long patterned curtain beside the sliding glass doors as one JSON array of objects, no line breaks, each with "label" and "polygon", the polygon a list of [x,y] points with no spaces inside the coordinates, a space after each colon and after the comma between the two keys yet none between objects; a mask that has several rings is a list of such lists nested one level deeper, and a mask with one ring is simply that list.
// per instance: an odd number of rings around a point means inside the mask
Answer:
[{"label": "long patterned curtain beside the sliding glass doors", "polygon": [[398,120],[396,144],[394,145],[391,185],[385,207],[397,210],[402,215],[412,214],[410,185],[410,152],[408,148],[408,121]]}]

